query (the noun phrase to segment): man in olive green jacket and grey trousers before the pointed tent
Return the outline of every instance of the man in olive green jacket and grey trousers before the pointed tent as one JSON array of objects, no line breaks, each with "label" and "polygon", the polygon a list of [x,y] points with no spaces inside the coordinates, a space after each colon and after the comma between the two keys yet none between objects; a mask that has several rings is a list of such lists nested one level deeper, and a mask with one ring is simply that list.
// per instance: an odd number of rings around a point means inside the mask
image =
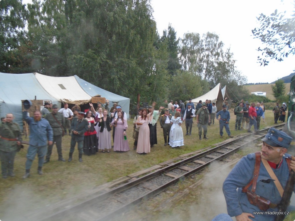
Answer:
[{"label": "man in olive green jacket and grey trousers before the pointed tent", "polygon": [[204,130],[204,139],[208,139],[207,135],[207,125],[210,123],[210,113],[206,108],[206,104],[203,103],[202,107],[196,113],[196,119],[199,129],[199,139],[202,139],[202,128]]}]

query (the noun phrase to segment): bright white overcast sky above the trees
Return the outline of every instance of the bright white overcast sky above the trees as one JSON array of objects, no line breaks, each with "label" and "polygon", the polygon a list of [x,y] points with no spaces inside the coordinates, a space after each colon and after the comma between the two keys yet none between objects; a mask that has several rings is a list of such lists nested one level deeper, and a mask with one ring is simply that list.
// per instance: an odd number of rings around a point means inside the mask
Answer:
[{"label": "bright white overcast sky above the trees", "polygon": [[271,61],[268,66],[260,66],[256,49],[263,47],[259,39],[253,39],[252,29],[259,27],[260,13],[270,15],[278,9],[293,9],[292,0],[151,0],[153,16],[160,36],[168,24],[182,38],[184,33],[204,34],[215,32],[219,39],[230,47],[237,60],[237,69],[248,77],[248,83],[268,82],[287,76],[295,69],[295,57],[283,62]]}]

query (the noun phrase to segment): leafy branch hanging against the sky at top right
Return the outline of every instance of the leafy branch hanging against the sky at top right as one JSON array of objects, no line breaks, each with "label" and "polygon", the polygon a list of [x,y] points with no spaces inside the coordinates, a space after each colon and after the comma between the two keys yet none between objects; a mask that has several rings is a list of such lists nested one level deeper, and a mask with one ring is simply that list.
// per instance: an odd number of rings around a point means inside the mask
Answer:
[{"label": "leafy branch hanging against the sky at top right", "polygon": [[[295,8],[295,4],[294,4]],[[270,16],[260,14],[257,18],[260,27],[252,30],[255,38],[262,41],[265,48],[258,48],[262,57],[258,57],[260,65],[268,65],[269,59],[282,61],[285,57],[295,53],[295,14],[286,18],[286,12],[275,10]]]}]

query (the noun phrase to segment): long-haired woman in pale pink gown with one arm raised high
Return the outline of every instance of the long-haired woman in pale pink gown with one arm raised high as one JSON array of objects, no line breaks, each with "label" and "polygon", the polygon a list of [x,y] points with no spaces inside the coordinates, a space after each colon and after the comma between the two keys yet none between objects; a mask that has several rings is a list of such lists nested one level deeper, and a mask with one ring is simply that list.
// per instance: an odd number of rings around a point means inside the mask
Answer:
[{"label": "long-haired woman in pale pink gown with one arm raised high", "polygon": [[148,114],[146,109],[142,109],[141,116],[137,118],[137,126],[139,126],[137,149],[139,154],[150,153],[150,128],[148,126],[150,116],[155,109],[155,102],[153,102],[152,111]]}]

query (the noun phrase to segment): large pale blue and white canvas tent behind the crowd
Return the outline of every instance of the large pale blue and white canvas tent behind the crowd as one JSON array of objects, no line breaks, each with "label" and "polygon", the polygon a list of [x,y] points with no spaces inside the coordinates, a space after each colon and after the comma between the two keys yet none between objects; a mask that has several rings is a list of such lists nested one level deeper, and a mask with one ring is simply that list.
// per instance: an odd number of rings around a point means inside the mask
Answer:
[{"label": "large pale blue and white canvas tent behind the crowd", "polygon": [[61,107],[61,103],[83,104],[92,96],[100,95],[119,102],[129,118],[130,99],[111,93],[84,81],[78,76],[50,77],[39,73],[9,74],[0,72],[0,116],[13,113],[15,121],[22,127],[22,100],[50,100]]}]

